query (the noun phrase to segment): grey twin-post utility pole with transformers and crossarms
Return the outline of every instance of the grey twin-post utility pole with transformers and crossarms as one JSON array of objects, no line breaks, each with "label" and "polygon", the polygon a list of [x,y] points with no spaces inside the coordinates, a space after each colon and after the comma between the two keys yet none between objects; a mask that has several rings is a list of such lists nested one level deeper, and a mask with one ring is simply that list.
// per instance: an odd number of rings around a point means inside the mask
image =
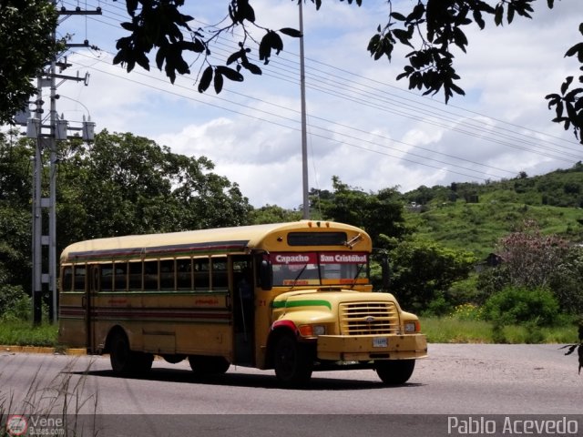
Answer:
[{"label": "grey twin-post utility pole with transformers and crossarms", "polygon": [[[56,7],[56,0],[51,0]],[[79,7],[75,10],[66,10],[62,7],[58,11],[59,15],[101,15],[101,8],[95,11],[82,11]],[[56,29],[52,32],[53,40],[56,41]],[[87,40],[83,45],[67,44],[67,47],[72,46],[89,46]],[[47,71],[44,71],[41,76],[36,79],[37,96],[36,109],[34,111],[35,117],[27,120],[26,135],[27,137],[36,138],[35,151],[35,166],[33,170],[33,193],[32,193],[32,300],[33,300],[33,321],[38,324],[42,320],[42,303],[43,292],[47,290],[51,295],[49,302],[49,319],[56,322],[57,319],[57,258],[56,258],[56,170],[58,163],[58,155],[56,149],[57,140],[65,140],[67,138],[66,131],[82,130],[83,139],[86,141],[93,139],[94,123],[84,121],[83,127],[74,128],[68,127],[68,123],[64,119],[59,119],[56,111],[56,100],[59,96],[56,94],[56,88],[65,80],[76,80],[77,82],[85,82],[88,85],[88,75],[85,77],[79,76],[63,76],[57,74],[56,67],[59,66],[65,69],[68,64],[57,63],[56,59],[52,59]],[[58,84],[56,79],[62,79]],[[48,87],[50,90],[50,111],[48,117],[43,117],[44,114],[44,100],[43,88]],[[43,124],[43,122],[47,124]],[[46,133],[48,131],[48,133]],[[43,197],[43,151],[48,149],[50,157],[48,165],[49,187],[48,197]],[[43,211],[48,212],[48,227],[43,227]],[[46,234],[44,232],[46,231]]]}]

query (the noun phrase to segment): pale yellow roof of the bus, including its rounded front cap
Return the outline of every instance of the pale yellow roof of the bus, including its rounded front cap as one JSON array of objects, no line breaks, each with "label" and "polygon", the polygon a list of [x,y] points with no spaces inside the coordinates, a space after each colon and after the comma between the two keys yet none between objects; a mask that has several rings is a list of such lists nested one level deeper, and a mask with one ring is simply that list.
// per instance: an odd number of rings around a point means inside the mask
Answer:
[{"label": "pale yellow roof of the bus, including its rounded front cap", "polygon": [[[89,239],[73,243],[61,253],[61,263],[132,258],[171,258],[199,252],[246,252],[252,249],[285,250],[281,248],[281,234],[288,232],[345,232],[346,241],[354,239],[357,251],[370,251],[371,240],[363,231],[351,225],[332,221],[300,220],[288,223],[240,226],[234,228],[199,229],[147,235],[127,235],[107,239]],[[361,236],[362,239],[358,239]],[[279,243],[279,244],[278,244]],[[346,245],[342,246],[345,248]],[[287,244],[285,248],[289,248]],[[294,246],[296,250],[305,247]],[[310,250],[315,248],[311,246]],[[335,249],[338,249],[336,246]]]}]

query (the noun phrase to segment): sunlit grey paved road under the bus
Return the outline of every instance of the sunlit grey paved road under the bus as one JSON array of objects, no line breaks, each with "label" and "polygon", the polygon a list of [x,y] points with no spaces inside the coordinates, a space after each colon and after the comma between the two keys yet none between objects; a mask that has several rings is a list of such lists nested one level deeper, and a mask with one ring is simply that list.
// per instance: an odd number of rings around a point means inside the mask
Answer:
[{"label": "sunlit grey paved road under the bus", "polygon": [[155,361],[148,378],[123,379],[111,373],[107,357],[1,352],[0,396],[5,410],[25,416],[42,411],[58,417],[64,401],[83,420],[97,413],[97,428],[107,429],[100,435],[474,431],[464,424],[482,426],[484,435],[493,426],[497,435],[511,435],[501,433],[506,416],[524,414],[553,414],[550,420],[571,421],[571,430],[577,424],[583,435],[583,416],[577,416],[583,413],[583,375],[577,358],[564,356],[557,345],[432,344],[429,353],[404,386],[384,387],[373,371],[327,371],[314,373],[307,389],[283,390],[272,371],[231,368],[220,377],[196,379],[186,361]]}]

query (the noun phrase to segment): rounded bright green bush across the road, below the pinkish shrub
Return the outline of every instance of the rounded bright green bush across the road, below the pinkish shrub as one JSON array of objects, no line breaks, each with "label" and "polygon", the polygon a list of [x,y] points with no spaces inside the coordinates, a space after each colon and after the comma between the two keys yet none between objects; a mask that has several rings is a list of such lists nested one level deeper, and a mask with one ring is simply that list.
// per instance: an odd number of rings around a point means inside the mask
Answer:
[{"label": "rounded bright green bush across the road, below the pinkish shrub", "polygon": [[535,322],[539,326],[553,325],[559,319],[559,306],[552,291],[506,287],[492,295],[484,305],[486,320],[502,324]]}]

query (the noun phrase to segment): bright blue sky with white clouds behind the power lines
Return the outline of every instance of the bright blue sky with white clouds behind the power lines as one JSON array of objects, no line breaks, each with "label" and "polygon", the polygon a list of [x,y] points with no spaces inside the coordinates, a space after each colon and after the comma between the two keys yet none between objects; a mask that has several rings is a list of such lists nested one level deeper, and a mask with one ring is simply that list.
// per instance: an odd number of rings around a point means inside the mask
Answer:
[{"label": "bright blue sky with white clouds behind the power lines", "polygon": [[[572,131],[552,123],[545,96],[556,93],[564,78],[578,74],[575,58],[565,58],[583,37],[580,0],[535,2],[533,20],[512,25],[486,23],[466,31],[468,53],[455,51],[455,68],[465,97],[445,105],[443,94],[423,97],[396,81],[405,65],[405,48],[392,62],[374,61],[366,51],[377,25],[389,13],[384,0],[365,0],[362,7],[324,0],[320,11],[303,8],[307,107],[308,185],[332,189],[332,177],[377,192],[452,182],[516,178],[571,168],[583,160],[583,146]],[[228,0],[187,0],[183,14],[191,27],[217,24],[227,15]],[[393,2],[408,11],[411,0]],[[298,5],[292,0],[253,0],[258,22],[272,29],[298,28]],[[96,131],[131,132],[148,137],[179,154],[210,158],[214,172],[240,186],[251,205],[300,208],[302,204],[302,136],[300,45],[284,38],[284,50],[268,66],[257,60],[262,76],[245,75],[242,83],[225,81],[220,95],[197,90],[200,62],[174,85],[152,63],[127,73],[113,66],[116,41],[127,36],[119,23],[128,21],[125,2],[63,0],[102,15],[62,17],[57,34],[72,42],[88,40],[99,51],[71,50],[72,64],[63,74],[89,74],[88,85],[75,81],[58,87],[57,111],[79,126],[91,117]],[[217,63],[235,50],[240,35],[222,36],[211,47]]]}]

